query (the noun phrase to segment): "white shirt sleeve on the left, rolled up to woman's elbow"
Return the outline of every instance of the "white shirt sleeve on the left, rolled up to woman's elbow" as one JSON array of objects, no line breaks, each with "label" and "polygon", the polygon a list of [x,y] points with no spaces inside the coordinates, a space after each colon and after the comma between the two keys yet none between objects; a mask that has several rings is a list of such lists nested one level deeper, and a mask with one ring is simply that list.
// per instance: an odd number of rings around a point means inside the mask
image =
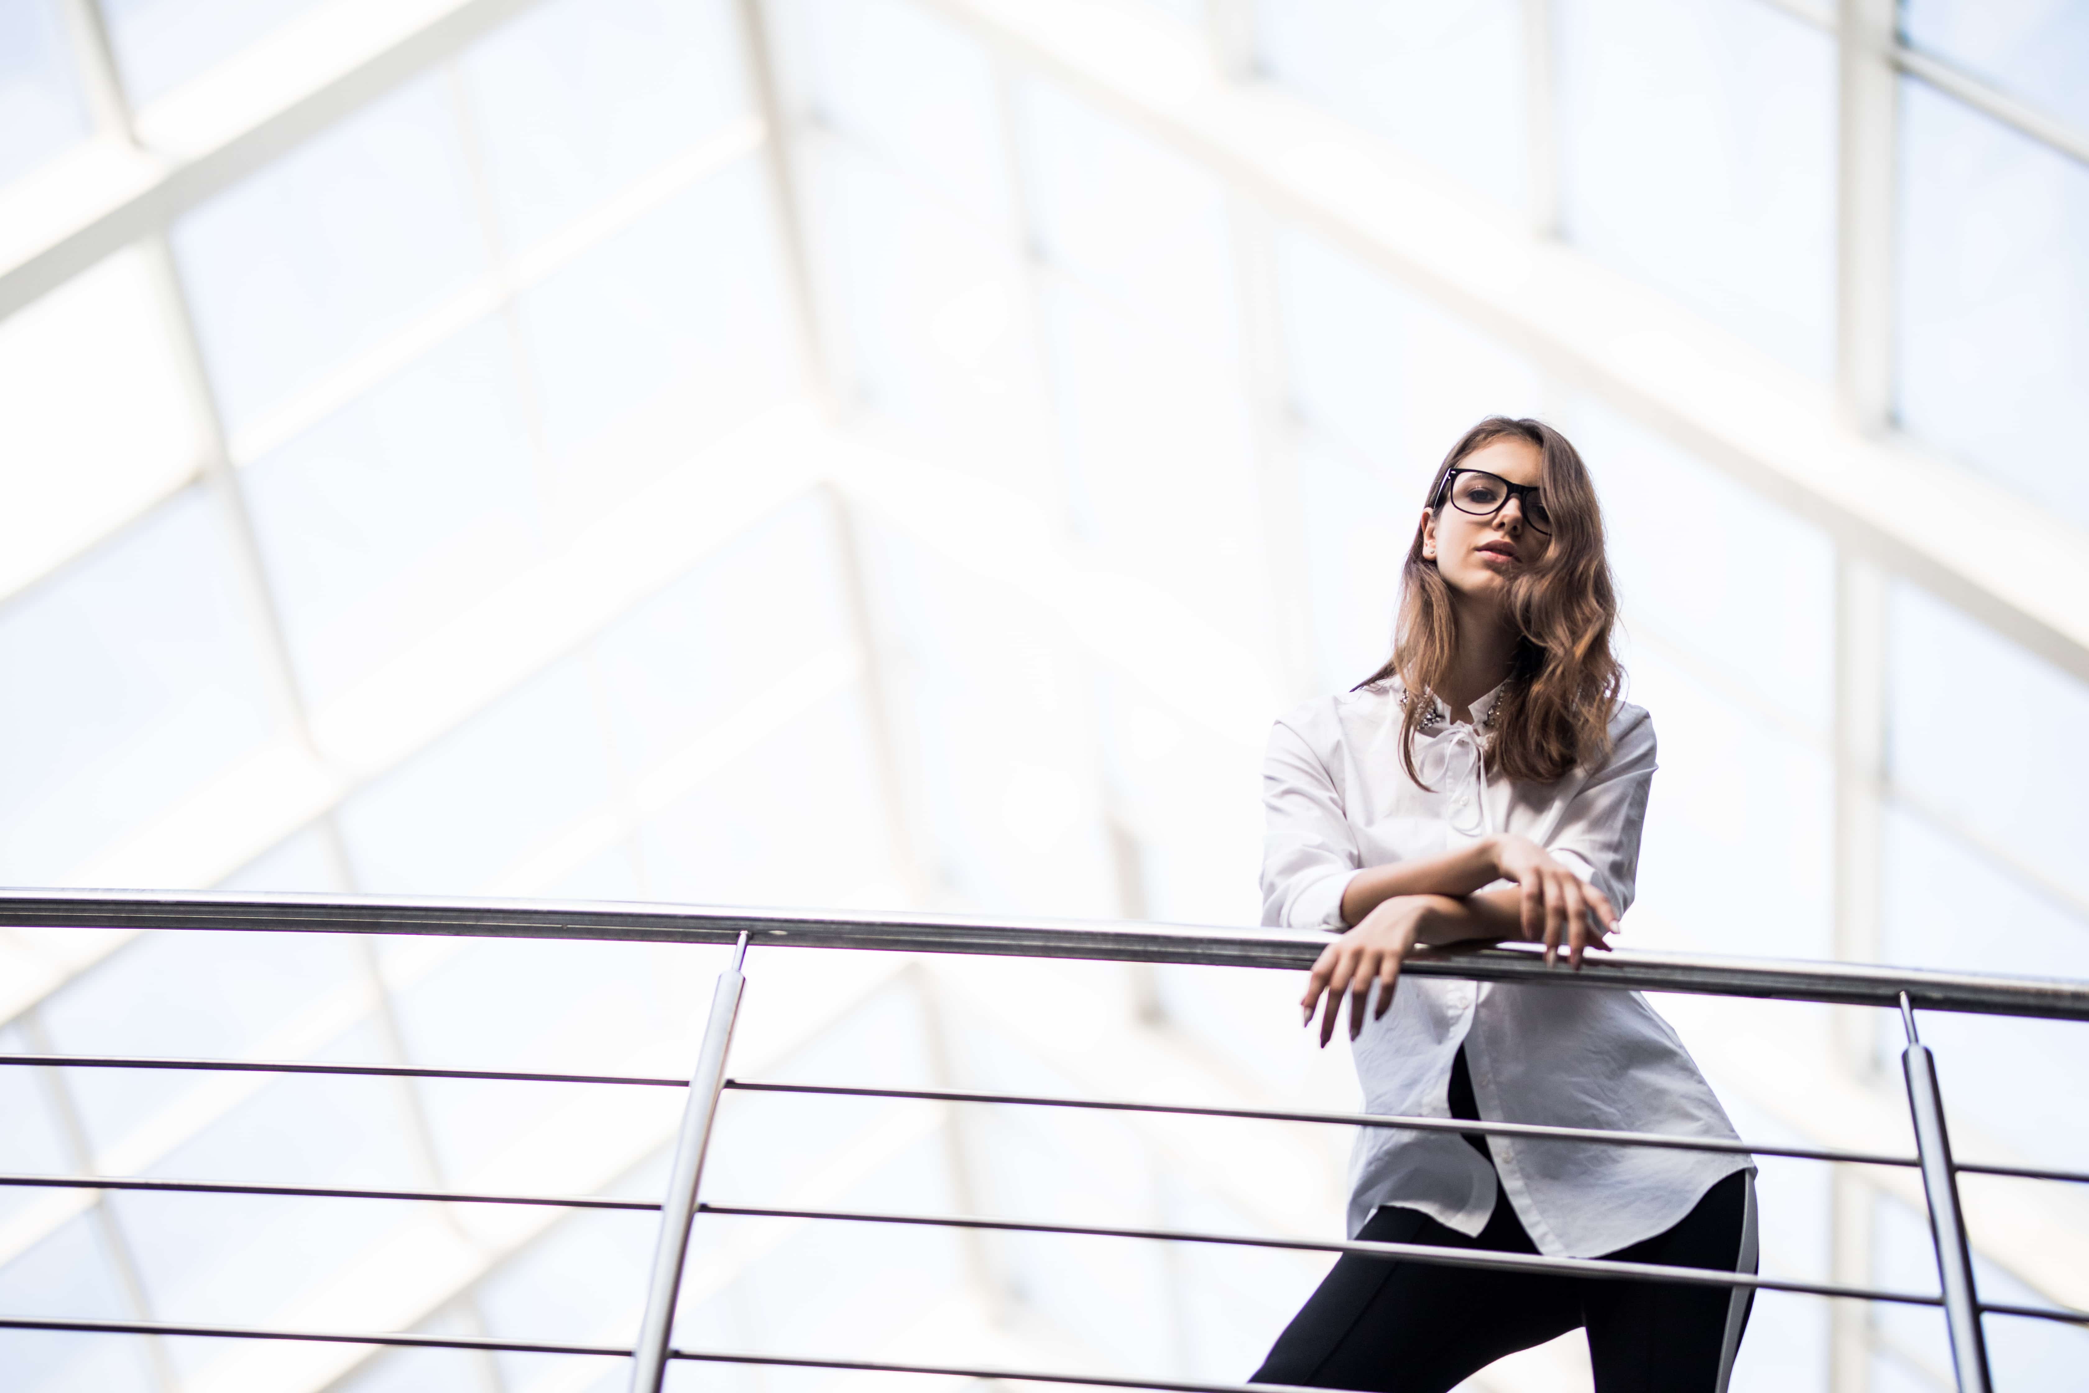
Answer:
[{"label": "white shirt sleeve on the left, rolled up to woman's elbow", "polygon": [[1262,762],[1262,923],[1335,929],[1341,892],[1362,865],[1341,794],[1304,735],[1278,721]]}]

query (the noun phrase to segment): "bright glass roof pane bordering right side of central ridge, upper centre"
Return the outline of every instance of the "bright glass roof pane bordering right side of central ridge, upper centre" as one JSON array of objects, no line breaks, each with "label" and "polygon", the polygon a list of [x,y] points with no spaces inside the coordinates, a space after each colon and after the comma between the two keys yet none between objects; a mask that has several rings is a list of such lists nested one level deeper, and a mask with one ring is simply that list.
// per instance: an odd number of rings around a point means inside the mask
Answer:
[{"label": "bright glass roof pane bordering right side of central ridge, upper centre", "polygon": [[840,142],[811,148],[813,230],[850,386],[953,468],[1061,505],[1047,487],[1030,284],[1013,249]]}]

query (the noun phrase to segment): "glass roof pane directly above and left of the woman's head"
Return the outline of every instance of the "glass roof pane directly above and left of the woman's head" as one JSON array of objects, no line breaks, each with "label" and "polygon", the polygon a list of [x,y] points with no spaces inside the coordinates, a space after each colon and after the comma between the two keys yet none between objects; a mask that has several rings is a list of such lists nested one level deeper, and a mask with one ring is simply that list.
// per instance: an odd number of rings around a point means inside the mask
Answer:
[{"label": "glass roof pane directly above and left of the woman's head", "polygon": [[1402,530],[1473,422],[1540,414],[1538,372],[1523,357],[1312,234],[1276,238],[1276,284],[1291,401],[1412,491]]}]

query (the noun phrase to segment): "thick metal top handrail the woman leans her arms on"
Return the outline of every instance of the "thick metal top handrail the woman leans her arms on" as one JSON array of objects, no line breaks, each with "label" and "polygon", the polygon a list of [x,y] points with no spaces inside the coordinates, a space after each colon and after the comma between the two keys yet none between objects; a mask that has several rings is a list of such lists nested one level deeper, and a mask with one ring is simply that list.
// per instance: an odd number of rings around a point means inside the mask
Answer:
[{"label": "thick metal top handrail the woman leans her arms on", "polygon": [[[48,892],[0,890],[0,927],[236,929],[307,934],[441,934],[472,938],[591,938],[623,942],[959,952],[986,957],[1201,963],[1212,967],[1310,967],[1327,934],[1074,923],[1051,919],[955,919],[940,915],[821,915],[673,904],[539,900],[401,900],[382,896]],[[1548,986],[1627,988],[1897,1007],[1920,1011],[2035,1015],[2089,1021],[2089,984],[2001,977],[1863,963],[1792,963],[1617,950],[1579,969],[1546,967],[1533,944],[1427,952],[1408,975]]]}]

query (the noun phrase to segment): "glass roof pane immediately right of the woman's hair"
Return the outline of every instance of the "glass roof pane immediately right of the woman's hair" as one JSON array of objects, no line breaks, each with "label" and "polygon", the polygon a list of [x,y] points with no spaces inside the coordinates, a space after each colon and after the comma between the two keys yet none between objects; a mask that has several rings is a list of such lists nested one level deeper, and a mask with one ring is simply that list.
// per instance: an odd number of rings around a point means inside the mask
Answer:
[{"label": "glass roof pane immediately right of the woman's hair", "polygon": [[1822,737],[1834,708],[1834,545],[1594,397],[1571,416],[1602,491],[1625,633],[1682,650]]}]

